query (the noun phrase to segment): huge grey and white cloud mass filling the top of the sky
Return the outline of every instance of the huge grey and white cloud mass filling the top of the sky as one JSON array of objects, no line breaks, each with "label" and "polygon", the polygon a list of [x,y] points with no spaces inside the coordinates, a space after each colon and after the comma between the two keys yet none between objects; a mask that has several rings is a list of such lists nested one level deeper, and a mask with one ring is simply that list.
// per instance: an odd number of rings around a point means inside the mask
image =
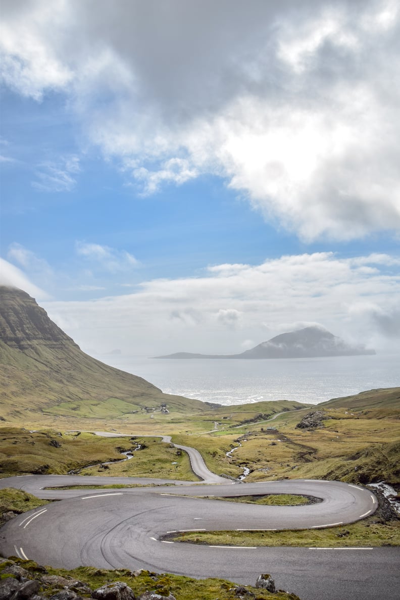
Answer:
[{"label": "huge grey and white cloud mass filling the top of the sky", "polygon": [[5,0],[2,13],[5,83],[66,94],[144,194],[211,173],[305,241],[399,227],[397,2]]}]

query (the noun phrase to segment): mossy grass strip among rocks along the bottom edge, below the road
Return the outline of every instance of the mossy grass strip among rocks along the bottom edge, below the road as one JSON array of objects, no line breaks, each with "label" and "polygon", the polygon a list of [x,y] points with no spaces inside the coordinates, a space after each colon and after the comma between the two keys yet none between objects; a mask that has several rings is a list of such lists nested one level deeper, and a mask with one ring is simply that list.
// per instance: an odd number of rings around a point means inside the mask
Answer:
[{"label": "mossy grass strip among rocks along the bottom edge, below the road", "polygon": [[[43,567],[39,567],[33,560],[21,560],[15,556],[11,558],[14,563],[29,571],[32,578],[40,580],[43,575]],[[5,562],[3,566],[7,566],[7,564],[8,562]],[[71,569],[71,571],[55,569],[51,566],[46,566],[46,569],[49,575],[59,575],[69,577],[72,580],[83,581],[93,590],[113,581],[123,581],[131,587],[136,598],[148,590],[155,590],[161,596],[168,596],[171,593],[178,600],[193,600],[194,598],[199,600],[200,598],[201,600],[215,600],[216,598],[218,600],[237,600],[238,597],[234,593],[237,584],[224,579],[193,579],[182,575],[160,574],[149,571],[142,571],[134,575],[129,569],[107,571],[106,569],[97,569],[90,566],[81,566],[77,569]],[[288,592],[279,591],[272,594],[267,590],[256,589],[252,586],[246,586],[246,589],[252,592],[257,600],[299,600],[298,596]],[[55,588],[51,593],[54,594],[59,591],[60,588]]]}]

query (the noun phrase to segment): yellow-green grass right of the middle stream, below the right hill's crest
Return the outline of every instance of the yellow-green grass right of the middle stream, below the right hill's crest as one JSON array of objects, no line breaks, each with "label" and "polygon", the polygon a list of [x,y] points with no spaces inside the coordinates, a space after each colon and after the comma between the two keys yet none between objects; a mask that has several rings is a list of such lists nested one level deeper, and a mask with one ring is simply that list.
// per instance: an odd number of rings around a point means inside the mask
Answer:
[{"label": "yellow-green grass right of the middle stream, below the right hill's crest", "polygon": [[[317,408],[317,407],[316,407]],[[278,416],[268,430],[257,425],[241,434],[231,462],[246,466],[246,481],[326,478],[348,482],[400,482],[400,410],[327,411],[324,427],[296,428],[308,411]],[[346,414],[347,413],[347,414]]]}]

